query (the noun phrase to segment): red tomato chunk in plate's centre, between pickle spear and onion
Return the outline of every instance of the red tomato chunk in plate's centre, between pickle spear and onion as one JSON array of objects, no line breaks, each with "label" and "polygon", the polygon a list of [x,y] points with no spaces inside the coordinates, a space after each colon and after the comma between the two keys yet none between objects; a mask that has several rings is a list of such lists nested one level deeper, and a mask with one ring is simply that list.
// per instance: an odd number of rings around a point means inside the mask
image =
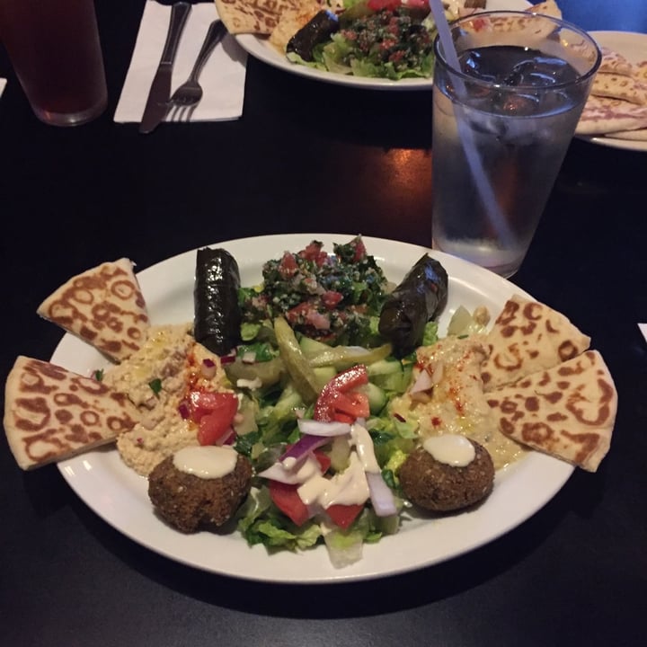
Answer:
[{"label": "red tomato chunk in plate's centre, between pickle spear and onion", "polygon": [[[354,422],[368,416],[368,398],[364,394],[350,392],[357,386],[368,383],[367,368],[363,364],[347,368],[323,387],[315,403],[313,417],[316,421]],[[359,397],[356,397],[358,396]],[[350,418],[350,420],[349,420]]]}]

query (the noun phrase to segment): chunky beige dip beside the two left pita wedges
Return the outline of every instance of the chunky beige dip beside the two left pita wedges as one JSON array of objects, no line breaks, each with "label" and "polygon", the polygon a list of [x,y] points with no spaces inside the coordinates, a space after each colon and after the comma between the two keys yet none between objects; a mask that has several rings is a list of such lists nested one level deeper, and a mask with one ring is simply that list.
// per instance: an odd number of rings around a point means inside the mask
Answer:
[{"label": "chunky beige dip beside the two left pita wedges", "polygon": [[[206,377],[204,359],[215,369]],[[121,459],[137,474],[179,449],[198,445],[195,424],[181,414],[189,391],[225,391],[226,377],[217,355],[191,335],[191,323],[151,326],[146,343],[119,366],[106,371],[106,385],[127,394],[141,421],[117,439]]]}]

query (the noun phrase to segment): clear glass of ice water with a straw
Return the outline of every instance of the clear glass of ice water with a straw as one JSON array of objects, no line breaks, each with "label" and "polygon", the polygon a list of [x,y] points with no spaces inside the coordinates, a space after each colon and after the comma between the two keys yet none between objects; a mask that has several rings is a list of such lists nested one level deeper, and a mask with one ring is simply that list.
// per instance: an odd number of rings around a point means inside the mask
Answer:
[{"label": "clear glass of ice water with a straw", "polygon": [[435,42],[433,246],[510,277],[526,256],[601,55],[585,31],[527,12],[477,13],[450,31],[460,69]]}]

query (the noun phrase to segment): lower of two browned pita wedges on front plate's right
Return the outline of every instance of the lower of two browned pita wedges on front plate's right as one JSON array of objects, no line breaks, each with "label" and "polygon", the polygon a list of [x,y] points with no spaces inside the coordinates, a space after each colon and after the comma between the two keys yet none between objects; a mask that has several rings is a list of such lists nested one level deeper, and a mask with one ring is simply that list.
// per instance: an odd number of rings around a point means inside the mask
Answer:
[{"label": "lower of two browned pita wedges on front plate's right", "polygon": [[597,350],[497,389],[488,403],[510,439],[589,472],[611,445],[616,386]]}]

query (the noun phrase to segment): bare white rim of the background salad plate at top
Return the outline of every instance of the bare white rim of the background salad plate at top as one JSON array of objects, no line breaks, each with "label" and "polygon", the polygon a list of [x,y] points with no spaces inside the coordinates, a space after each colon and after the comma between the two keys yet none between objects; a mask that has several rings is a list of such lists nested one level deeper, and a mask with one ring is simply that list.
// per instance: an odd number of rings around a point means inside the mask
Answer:
[{"label": "bare white rim of the background salad plate at top", "polygon": [[[526,0],[488,0],[487,8],[491,11],[498,9],[523,11],[529,4]],[[254,58],[258,58],[270,66],[279,67],[285,72],[306,76],[306,78],[323,81],[324,83],[351,85],[352,87],[370,90],[430,90],[433,85],[431,78],[408,78],[391,81],[384,78],[342,75],[337,72],[313,69],[312,67],[290,62],[284,54],[281,54],[278,49],[270,44],[266,37],[255,36],[254,34],[238,34],[235,39]]]}]

